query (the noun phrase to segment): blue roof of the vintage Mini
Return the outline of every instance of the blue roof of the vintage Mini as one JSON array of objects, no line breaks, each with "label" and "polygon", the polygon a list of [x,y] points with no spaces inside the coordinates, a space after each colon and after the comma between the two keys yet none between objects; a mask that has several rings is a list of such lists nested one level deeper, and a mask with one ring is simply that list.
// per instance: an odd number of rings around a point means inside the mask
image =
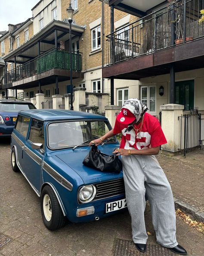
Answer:
[{"label": "blue roof of the vintage Mini", "polygon": [[105,119],[102,115],[95,115],[92,113],[74,111],[74,110],[61,110],[61,109],[31,109],[21,110],[19,114],[28,115],[31,118],[40,119],[42,121],[51,120],[68,120],[68,119]]}]

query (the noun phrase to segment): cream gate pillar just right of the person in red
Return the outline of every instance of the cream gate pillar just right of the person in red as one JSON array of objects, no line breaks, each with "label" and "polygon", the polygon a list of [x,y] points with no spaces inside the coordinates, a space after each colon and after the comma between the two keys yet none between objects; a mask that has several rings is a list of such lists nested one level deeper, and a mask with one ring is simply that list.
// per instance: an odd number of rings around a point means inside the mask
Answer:
[{"label": "cream gate pillar just right of the person in red", "polygon": [[179,151],[181,139],[181,118],[178,116],[183,113],[184,106],[179,104],[161,105],[161,128],[167,139],[167,144],[161,146],[161,149],[176,152]]}]

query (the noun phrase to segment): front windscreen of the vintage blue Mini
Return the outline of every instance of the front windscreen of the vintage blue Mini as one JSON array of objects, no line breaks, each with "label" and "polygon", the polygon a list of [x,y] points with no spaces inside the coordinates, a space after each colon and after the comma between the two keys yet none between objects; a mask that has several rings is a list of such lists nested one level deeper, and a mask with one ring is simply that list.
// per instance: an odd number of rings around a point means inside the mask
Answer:
[{"label": "front windscreen of the vintage blue Mini", "polygon": [[[74,147],[86,141],[83,145],[87,145],[89,141],[100,138],[109,130],[110,126],[104,121],[53,122],[47,127],[48,147],[51,149]],[[112,137],[107,143],[115,142],[115,137]]]}]

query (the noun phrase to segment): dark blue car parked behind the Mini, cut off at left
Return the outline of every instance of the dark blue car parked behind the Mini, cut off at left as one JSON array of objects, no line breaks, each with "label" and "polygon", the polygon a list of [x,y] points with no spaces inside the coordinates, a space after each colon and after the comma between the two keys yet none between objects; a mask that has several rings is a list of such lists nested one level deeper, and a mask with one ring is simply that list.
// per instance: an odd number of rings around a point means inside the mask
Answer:
[{"label": "dark blue car parked behind the Mini, cut off at left", "polygon": [[20,110],[36,109],[31,102],[0,99],[0,138],[10,137]]}]

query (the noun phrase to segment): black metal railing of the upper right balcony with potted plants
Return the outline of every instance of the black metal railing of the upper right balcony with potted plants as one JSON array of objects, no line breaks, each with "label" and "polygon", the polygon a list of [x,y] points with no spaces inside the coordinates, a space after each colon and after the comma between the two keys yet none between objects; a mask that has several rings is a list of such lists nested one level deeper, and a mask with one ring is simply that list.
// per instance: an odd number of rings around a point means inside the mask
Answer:
[{"label": "black metal railing of the upper right balcony with potted plants", "polygon": [[[177,0],[107,35],[106,63],[114,64],[204,36],[204,0]],[[178,40],[176,40],[178,39]]]}]

